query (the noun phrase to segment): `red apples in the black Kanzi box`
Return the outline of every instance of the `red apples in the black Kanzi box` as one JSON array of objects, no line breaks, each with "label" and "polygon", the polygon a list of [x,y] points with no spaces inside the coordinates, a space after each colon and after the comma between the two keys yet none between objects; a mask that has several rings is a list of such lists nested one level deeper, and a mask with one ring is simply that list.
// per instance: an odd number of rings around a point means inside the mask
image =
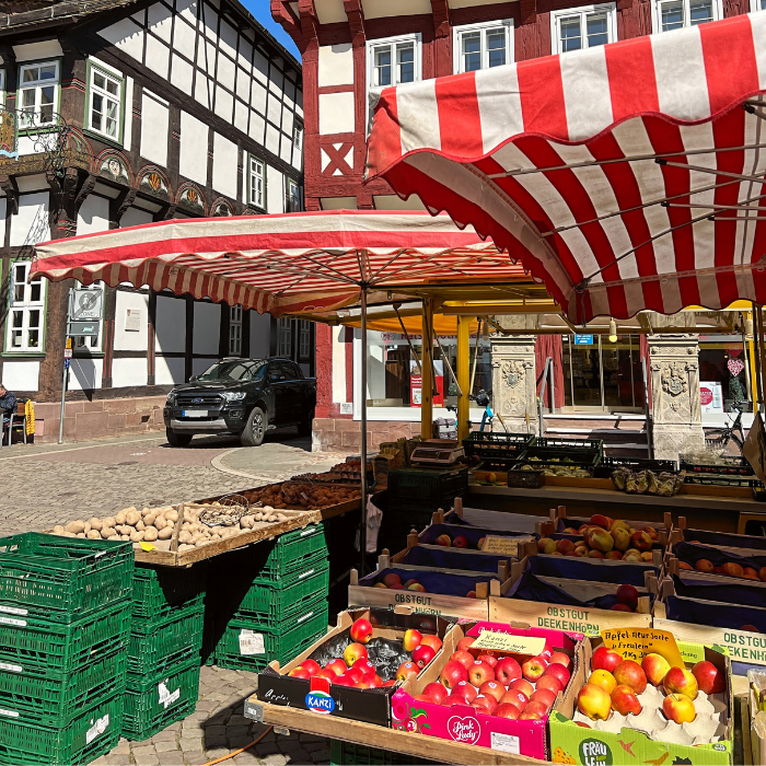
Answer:
[{"label": "red apples in the black Kanzi box", "polygon": [[438,636],[423,636],[419,630],[409,629],[405,632],[402,645],[405,651],[410,652],[411,661],[403,662],[396,671],[396,676],[390,681],[383,681],[378,670],[370,662],[367,647],[372,638],[372,624],[369,619],[355,620],[349,630],[353,643],[349,643],[343,659],[332,660],[324,668],[315,660],[303,660],[300,665],[293,668],[288,675],[293,678],[326,678],[335,686],[352,686],[358,689],[379,688],[381,686],[394,686],[399,681],[417,675],[441,649],[441,639]]}]

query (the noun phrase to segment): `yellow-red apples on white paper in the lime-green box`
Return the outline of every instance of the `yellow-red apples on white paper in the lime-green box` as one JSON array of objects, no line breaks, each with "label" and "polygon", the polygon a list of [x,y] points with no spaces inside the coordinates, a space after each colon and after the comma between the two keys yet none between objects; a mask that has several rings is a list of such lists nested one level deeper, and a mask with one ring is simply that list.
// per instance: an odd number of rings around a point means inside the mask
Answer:
[{"label": "yellow-red apples on white paper in the lime-green box", "polygon": [[[645,704],[658,700],[664,693],[660,708],[664,717],[675,723],[690,723],[697,717],[694,700],[699,692],[719,694],[726,688],[723,673],[707,660],[687,671],[671,668],[661,654],[647,654],[639,664],[606,647],[593,652],[591,671],[578,694],[577,706],[593,721],[607,720],[613,710],[622,716],[640,716]],[[649,684],[660,695],[643,697]]]}]

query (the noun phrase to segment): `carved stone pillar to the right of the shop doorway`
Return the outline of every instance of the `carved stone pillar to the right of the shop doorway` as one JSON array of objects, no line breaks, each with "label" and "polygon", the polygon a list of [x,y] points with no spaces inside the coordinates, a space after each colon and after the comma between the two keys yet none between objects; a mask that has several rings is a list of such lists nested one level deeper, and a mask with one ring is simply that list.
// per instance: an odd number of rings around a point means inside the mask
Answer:
[{"label": "carved stone pillar to the right of the shop doorway", "polygon": [[650,335],[654,457],[705,449],[699,402],[699,340],[696,335]]}]

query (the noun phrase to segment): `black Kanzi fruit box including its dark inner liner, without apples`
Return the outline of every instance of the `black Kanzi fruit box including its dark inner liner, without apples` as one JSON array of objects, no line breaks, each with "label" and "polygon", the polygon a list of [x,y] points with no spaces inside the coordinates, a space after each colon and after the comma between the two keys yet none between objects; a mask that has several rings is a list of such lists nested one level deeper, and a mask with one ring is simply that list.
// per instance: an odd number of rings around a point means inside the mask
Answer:
[{"label": "black Kanzi fruit box including its dark inner liner, without apples", "polygon": [[[358,619],[369,620],[372,626],[370,640],[385,665],[376,665],[383,682],[394,681],[394,685],[373,688],[358,688],[337,683],[321,683],[321,680],[290,675],[302,666],[306,660],[314,660],[325,668],[333,658],[340,659],[345,649],[351,643],[351,627]],[[258,701],[271,705],[282,705],[301,710],[311,710],[317,715],[330,715],[338,718],[350,718],[378,726],[391,724],[391,698],[397,688],[407,688],[416,677],[411,674],[404,681],[397,682],[395,675],[399,669],[399,659],[409,653],[402,647],[395,651],[393,642],[404,641],[408,630],[417,630],[423,637],[436,636],[440,641],[449,632],[453,623],[437,616],[425,616],[411,613],[411,610],[348,610],[338,615],[335,628],[329,630],[318,641],[301,652],[297,658],[280,668],[278,662],[271,662],[268,668],[258,673]],[[383,639],[375,642],[374,639]],[[436,652],[436,659],[440,657]],[[372,653],[371,653],[372,655]],[[436,661],[436,660],[434,660]],[[340,659],[340,662],[344,662]]]}]

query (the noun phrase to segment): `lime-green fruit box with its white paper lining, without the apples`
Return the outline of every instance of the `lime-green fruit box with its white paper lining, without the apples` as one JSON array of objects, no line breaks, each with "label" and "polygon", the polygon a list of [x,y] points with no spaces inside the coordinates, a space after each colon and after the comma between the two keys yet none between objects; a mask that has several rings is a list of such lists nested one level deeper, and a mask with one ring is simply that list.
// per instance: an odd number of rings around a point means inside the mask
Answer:
[{"label": "lime-green fruit box with its white paper lining, without the apples", "polygon": [[[731,688],[731,664],[722,651],[703,646],[697,649],[698,655],[712,663],[715,670],[722,674],[724,680],[723,692],[711,694],[709,697],[703,696],[700,692],[698,701],[693,704],[695,721],[699,719],[697,727],[694,727],[694,722],[676,723],[673,720],[668,720],[658,711],[652,715],[646,699],[642,703],[646,707],[640,716],[629,713],[625,718],[616,718],[616,711],[612,710],[606,721],[585,723],[584,721],[588,719],[578,711],[578,696],[591,675],[593,653],[602,643],[600,637],[585,638],[582,653],[583,672],[578,674],[573,678],[574,683],[567,687],[560,704],[548,719],[552,761],[554,763],[581,764],[582,766],[595,766],[596,764],[606,766],[613,763],[653,764],[655,766],[661,764],[668,764],[668,766],[672,764],[729,766],[732,763],[734,697]],[[693,664],[687,663],[687,670],[690,670]],[[640,666],[639,670],[641,670]],[[647,683],[646,677],[643,682]],[[589,684],[589,686],[593,686],[593,684]],[[647,689],[651,695],[661,696],[663,694],[651,684],[647,685]],[[605,696],[608,703],[610,695]],[[642,694],[638,696],[639,698],[643,697]],[[676,704],[683,697],[680,694],[674,696]],[[666,698],[663,697],[663,703]],[[590,701],[592,705],[596,704],[593,698]],[[688,705],[688,703],[685,704]],[[713,720],[716,716],[718,718]],[[639,718],[640,720],[637,720]],[[708,718],[710,720],[707,720]],[[707,726],[708,723],[710,727]],[[602,726],[605,726],[605,729],[595,728]],[[707,744],[692,744],[698,736],[697,731],[701,729],[720,732],[717,734],[718,741]]]}]

